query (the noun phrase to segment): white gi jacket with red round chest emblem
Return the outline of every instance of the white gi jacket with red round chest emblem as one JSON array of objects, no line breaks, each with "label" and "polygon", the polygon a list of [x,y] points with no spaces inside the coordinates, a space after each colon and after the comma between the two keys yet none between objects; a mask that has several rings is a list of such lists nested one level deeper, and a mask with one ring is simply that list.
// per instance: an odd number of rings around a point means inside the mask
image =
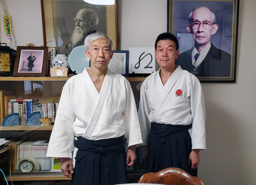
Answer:
[{"label": "white gi jacket with red round chest emblem", "polygon": [[167,125],[190,125],[192,149],[206,149],[205,104],[197,77],[180,66],[163,86],[159,71],[145,79],[138,109],[143,145],[148,145],[152,122]]}]

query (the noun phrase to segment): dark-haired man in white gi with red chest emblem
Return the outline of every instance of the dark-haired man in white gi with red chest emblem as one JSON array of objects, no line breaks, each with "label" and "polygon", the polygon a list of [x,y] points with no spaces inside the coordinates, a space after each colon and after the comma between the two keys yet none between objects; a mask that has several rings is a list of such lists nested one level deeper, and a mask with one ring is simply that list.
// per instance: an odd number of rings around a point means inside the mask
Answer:
[{"label": "dark-haired man in white gi with red chest emblem", "polygon": [[197,77],[175,66],[178,40],[162,33],[155,42],[160,70],[141,87],[139,122],[143,157],[149,155],[149,172],[181,168],[197,176],[199,151],[206,149],[205,105]]}]

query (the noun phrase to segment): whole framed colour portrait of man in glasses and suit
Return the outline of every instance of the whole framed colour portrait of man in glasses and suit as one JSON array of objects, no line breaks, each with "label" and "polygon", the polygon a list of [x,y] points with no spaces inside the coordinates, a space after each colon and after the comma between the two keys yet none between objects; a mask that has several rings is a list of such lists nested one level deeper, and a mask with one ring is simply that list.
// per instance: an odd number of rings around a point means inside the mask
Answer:
[{"label": "whole framed colour portrait of man in glasses and suit", "polygon": [[179,41],[176,65],[200,82],[235,82],[239,0],[168,0],[168,32]]}]

